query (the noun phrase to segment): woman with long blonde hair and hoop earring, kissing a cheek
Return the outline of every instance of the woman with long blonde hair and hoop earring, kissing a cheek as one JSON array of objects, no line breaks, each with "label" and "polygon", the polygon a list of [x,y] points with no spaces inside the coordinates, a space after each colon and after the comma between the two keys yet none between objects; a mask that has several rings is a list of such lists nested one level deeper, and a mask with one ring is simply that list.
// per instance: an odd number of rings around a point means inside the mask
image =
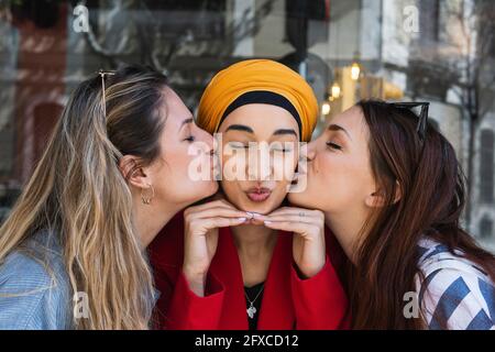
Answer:
[{"label": "woman with long blonde hair and hoop earring, kissing a cheek", "polygon": [[217,191],[212,177],[188,177],[194,158],[210,164],[211,148],[151,68],[80,84],[0,228],[0,329],[151,327],[146,246],[180,209]]}]

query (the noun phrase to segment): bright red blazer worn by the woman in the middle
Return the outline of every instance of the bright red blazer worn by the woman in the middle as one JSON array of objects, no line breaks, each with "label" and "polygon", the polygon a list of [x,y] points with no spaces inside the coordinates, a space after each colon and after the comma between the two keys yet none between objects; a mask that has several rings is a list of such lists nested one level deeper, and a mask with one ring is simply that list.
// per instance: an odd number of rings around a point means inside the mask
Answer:
[{"label": "bright red blazer worn by the woman in the middle", "polygon": [[[150,246],[155,283],[161,292],[157,323],[174,330],[248,330],[244,285],[229,228],[220,229],[205,297],[185,279],[183,215],[173,219]],[[344,255],[327,233],[327,263],[314,277],[299,278],[293,260],[293,235],[280,233],[273,253],[257,320],[258,330],[340,329],[348,327],[348,300],[333,265]]]}]

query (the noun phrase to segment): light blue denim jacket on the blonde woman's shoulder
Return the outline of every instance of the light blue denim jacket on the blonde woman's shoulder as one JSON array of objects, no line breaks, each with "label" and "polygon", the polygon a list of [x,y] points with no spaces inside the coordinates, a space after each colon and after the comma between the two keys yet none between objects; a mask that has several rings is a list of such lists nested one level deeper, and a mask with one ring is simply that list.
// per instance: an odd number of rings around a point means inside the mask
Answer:
[{"label": "light blue denim jacket on the blonde woman's shoulder", "polygon": [[36,233],[0,265],[0,329],[72,329],[69,293],[56,237]]}]

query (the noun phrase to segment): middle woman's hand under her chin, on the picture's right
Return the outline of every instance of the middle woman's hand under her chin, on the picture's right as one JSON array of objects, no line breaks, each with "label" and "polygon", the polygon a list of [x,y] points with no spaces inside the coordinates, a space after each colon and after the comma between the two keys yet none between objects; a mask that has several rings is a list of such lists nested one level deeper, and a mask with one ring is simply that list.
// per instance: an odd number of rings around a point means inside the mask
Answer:
[{"label": "middle woman's hand under her chin, on the picture's right", "polygon": [[301,276],[309,278],[324,266],[324,216],[319,210],[279,208],[263,217],[265,227],[294,233],[293,255]]}]

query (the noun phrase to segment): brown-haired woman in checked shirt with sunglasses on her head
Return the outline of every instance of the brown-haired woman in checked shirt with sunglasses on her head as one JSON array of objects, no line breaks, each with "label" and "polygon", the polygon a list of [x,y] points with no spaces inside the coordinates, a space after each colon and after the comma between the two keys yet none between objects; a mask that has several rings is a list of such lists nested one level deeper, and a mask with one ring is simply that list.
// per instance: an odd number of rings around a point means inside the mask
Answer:
[{"label": "brown-haired woman in checked shirt with sunglasses on her head", "polygon": [[464,177],[427,118],[428,103],[383,101],[336,116],[289,195],[324,213],[353,263],[353,328],[495,328],[495,258],[460,224]]}]

